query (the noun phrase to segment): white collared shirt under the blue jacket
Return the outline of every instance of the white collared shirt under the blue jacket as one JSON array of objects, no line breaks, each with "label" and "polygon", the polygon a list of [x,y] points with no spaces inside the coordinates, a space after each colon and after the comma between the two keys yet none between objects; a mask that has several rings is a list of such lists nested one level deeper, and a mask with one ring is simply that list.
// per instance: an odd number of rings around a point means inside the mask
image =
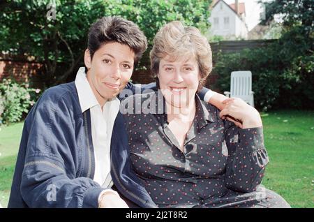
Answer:
[{"label": "white collared shirt under the blue jacket", "polygon": [[117,97],[107,101],[101,110],[94,92],[91,90],[85,68],[77,71],[75,86],[82,112],[91,112],[91,137],[95,155],[94,181],[104,188],[112,186],[110,175],[110,142],[114,120],[119,112],[120,101]]}]

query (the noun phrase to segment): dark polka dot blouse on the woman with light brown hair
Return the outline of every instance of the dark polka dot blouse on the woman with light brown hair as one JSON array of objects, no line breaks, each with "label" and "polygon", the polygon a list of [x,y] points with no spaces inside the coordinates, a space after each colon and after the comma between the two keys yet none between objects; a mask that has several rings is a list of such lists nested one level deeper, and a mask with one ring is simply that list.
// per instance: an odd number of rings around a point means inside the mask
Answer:
[{"label": "dark polka dot blouse on the woman with light brown hair", "polygon": [[[254,191],[262,182],[269,161],[262,127],[238,128],[196,95],[195,118],[181,151],[167,127],[163,96],[134,95],[124,103],[132,168],[158,207],[199,205],[228,190]],[[139,112],[140,104],[149,105]]]}]

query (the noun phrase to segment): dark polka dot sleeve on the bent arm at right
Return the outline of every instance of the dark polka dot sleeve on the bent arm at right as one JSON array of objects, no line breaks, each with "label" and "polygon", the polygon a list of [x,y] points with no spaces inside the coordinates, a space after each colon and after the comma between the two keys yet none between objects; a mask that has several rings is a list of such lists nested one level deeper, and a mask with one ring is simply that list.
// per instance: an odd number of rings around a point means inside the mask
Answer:
[{"label": "dark polka dot sleeve on the bent arm at right", "polygon": [[225,145],[228,149],[225,180],[227,187],[252,192],[262,182],[269,158],[264,147],[263,128],[241,129],[225,121]]}]

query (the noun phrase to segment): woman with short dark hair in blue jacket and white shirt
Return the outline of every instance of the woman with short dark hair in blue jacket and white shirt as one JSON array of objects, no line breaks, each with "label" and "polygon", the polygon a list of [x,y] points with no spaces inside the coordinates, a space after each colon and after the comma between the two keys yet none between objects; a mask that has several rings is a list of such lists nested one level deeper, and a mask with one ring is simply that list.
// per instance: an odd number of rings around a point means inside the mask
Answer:
[{"label": "woman with short dark hair in blue jacket and white shirt", "polygon": [[146,48],[133,22],[91,25],[85,68],[47,89],[25,119],[8,207],[128,207],[111,189],[110,141],[116,96]]}]

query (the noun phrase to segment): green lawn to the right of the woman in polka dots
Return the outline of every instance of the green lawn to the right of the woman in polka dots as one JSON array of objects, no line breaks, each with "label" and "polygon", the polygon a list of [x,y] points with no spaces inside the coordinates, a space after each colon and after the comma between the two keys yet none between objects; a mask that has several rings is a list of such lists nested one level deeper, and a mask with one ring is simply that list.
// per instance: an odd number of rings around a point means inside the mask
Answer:
[{"label": "green lawn to the right of the woman in polka dots", "polygon": [[262,184],[292,207],[314,207],[314,111],[262,114],[270,163]]}]

